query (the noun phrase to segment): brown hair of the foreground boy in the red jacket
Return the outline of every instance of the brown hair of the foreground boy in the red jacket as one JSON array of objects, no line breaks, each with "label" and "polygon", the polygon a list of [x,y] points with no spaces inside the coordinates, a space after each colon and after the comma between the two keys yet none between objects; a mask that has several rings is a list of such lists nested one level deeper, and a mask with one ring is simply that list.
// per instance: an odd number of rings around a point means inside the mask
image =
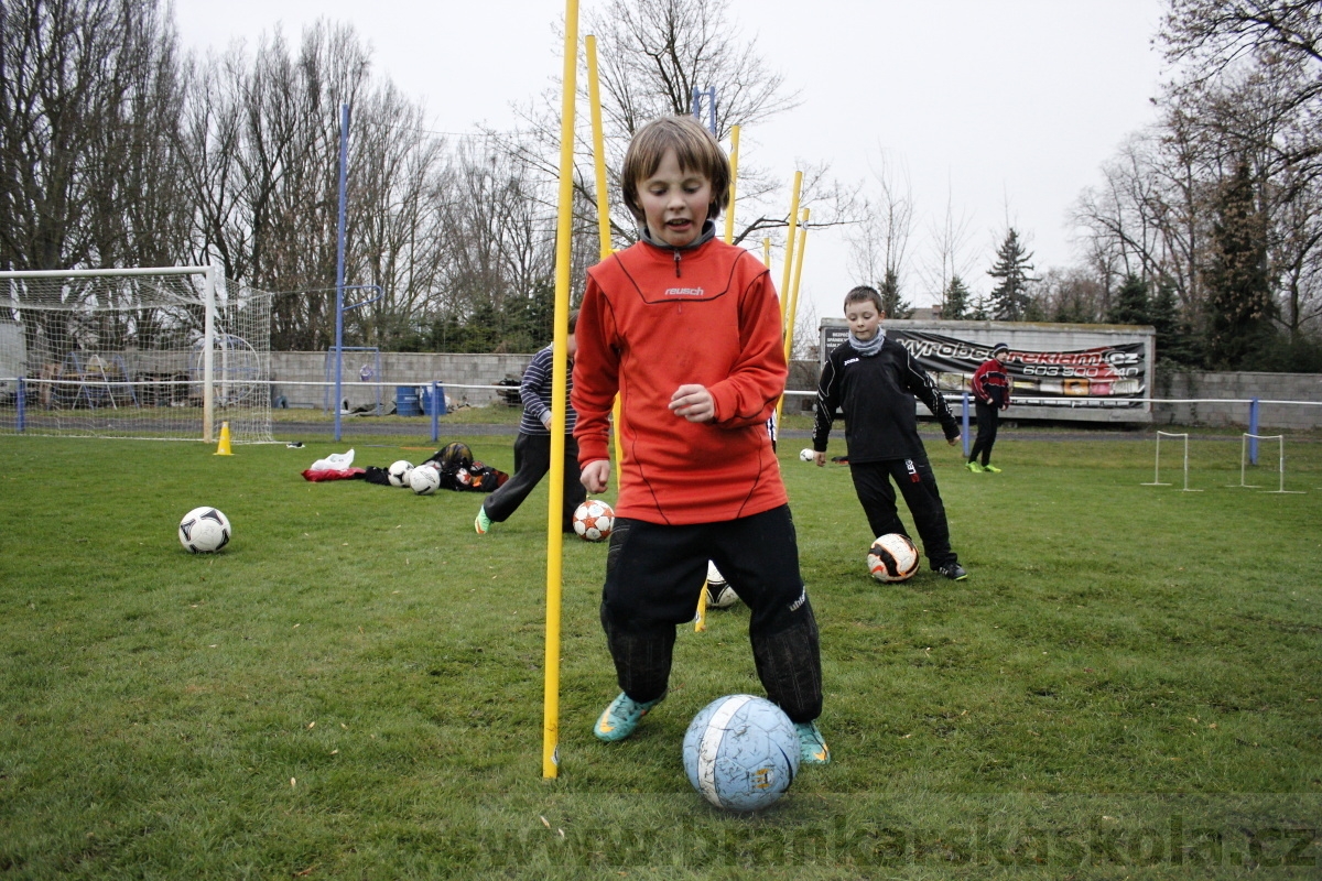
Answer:
[{"label": "brown hair of the foreground boy in the red jacket", "polygon": [[719,217],[730,202],[730,160],[711,132],[693,116],[662,116],[640,128],[624,153],[624,205],[633,219],[645,222],[639,205],[639,182],[656,173],[668,149],[674,151],[681,169],[697,172],[711,181],[707,218]]}]

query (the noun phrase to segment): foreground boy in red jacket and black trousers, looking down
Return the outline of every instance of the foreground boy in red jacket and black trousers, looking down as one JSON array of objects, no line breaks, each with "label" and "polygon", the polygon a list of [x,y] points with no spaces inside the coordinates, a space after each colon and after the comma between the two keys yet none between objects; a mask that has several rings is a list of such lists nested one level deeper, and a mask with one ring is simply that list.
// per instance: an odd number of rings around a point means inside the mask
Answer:
[{"label": "foreground boy in red jacket and black trousers, looking down", "polygon": [[620,395],[624,458],[602,590],[620,695],[594,733],[617,741],[665,697],[676,626],[693,619],[707,561],[748,604],[758,675],[826,763],[817,622],[765,421],[785,387],[780,302],[767,268],[715,238],[730,164],[695,120],[653,120],[624,157],[641,240],[588,269],[572,404],[583,486],[611,476]]}]

